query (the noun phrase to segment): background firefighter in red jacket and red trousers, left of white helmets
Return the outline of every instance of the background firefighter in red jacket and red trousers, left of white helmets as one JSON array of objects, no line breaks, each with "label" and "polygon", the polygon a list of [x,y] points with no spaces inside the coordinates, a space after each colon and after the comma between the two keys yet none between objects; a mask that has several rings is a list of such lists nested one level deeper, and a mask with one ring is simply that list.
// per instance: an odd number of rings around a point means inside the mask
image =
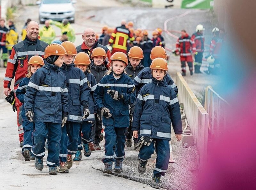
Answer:
[{"label": "background firefighter in red jacket and red trousers, left of white helmets", "polygon": [[175,54],[180,55],[180,62],[182,68],[182,76],[186,76],[186,62],[190,70],[190,75],[193,75],[193,55],[195,54],[195,42],[188,35],[186,30],[181,30],[181,36],[176,42]]}]

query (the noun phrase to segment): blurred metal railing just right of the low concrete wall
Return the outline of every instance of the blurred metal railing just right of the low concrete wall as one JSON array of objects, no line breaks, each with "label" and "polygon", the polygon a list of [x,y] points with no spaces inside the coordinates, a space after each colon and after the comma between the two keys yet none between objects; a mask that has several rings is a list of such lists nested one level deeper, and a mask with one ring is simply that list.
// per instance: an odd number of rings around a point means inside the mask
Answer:
[{"label": "blurred metal railing just right of the low concrete wall", "polygon": [[205,89],[204,109],[209,114],[209,138],[216,138],[220,135],[220,127],[226,126],[226,115],[229,103],[221,98],[211,86]]}]

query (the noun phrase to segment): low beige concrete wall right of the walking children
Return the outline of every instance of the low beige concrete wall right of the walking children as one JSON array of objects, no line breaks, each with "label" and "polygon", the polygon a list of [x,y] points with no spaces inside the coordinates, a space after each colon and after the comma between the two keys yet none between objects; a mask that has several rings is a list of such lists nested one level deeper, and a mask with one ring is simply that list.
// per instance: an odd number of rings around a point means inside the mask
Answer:
[{"label": "low beige concrete wall right of the walking children", "polygon": [[199,166],[202,168],[207,160],[209,115],[179,72],[176,85],[179,89],[178,99],[184,104],[188,125],[190,125],[194,144],[200,155]]}]

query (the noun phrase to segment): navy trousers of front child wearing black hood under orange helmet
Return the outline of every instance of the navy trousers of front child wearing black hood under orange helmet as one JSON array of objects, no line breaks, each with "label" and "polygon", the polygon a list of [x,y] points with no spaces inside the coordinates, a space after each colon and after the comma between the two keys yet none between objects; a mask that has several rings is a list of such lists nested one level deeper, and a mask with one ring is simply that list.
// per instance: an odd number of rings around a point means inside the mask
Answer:
[{"label": "navy trousers of front child wearing black hood under orange helmet", "polygon": [[35,122],[35,130],[32,133],[35,144],[31,152],[37,158],[43,158],[45,155],[45,140],[48,134],[48,156],[47,166],[60,165],[60,140],[61,124],[51,122]]}]

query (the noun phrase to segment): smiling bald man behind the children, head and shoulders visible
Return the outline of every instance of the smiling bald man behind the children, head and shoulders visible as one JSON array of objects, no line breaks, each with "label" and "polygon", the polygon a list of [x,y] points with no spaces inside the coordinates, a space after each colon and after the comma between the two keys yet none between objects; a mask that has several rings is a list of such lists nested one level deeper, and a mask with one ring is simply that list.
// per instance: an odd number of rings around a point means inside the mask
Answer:
[{"label": "smiling bald man behind the children, head and shoulders visible", "polygon": [[107,54],[107,59],[105,60],[105,66],[106,66],[108,63],[108,60],[111,57],[111,53],[106,46],[99,44],[98,40],[96,39],[95,31],[92,28],[86,28],[84,30],[84,33],[82,34],[82,38],[84,42],[80,46],[76,47],[77,53],[85,52],[90,56],[94,48],[102,47],[103,49],[105,49]]}]

